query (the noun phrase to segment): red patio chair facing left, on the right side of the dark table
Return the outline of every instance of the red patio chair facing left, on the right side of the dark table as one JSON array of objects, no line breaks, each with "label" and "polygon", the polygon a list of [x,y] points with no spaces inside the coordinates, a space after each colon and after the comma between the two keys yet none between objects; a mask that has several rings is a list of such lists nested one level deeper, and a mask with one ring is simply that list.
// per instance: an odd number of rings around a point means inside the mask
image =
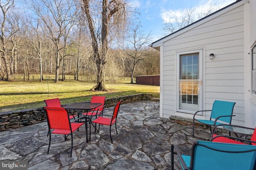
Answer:
[{"label": "red patio chair facing left, on the right side of the dark table", "polygon": [[[115,123],[115,127],[116,127],[116,117],[118,115],[118,111],[119,111],[121,102],[122,102],[122,100],[120,100],[119,102],[116,103],[114,110],[113,110],[113,115],[101,114],[99,117],[97,117],[97,115],[94,115],[97,118],[92,121],[92,123],[99,124],[98,131],[100,131],[100,125],[110,126],[109,134],[110,134],[111,143],[113,143],[112,137],[111,137],[111,126]],[[104,109],[104,110],[107,110],[107,109]],[[94,117],[94,116],[92,116],[92,117]],[[111,117],[111,118],[108,118],[108,117]],[[95,128],[96,128],[96,125],[95,125]],[[91,124],[90,124],[90,131],[91,131]],[[117,129],[116,129],[116,134],[118,134]],[[90,135],[91,135],[91,133],[90,133]]]}]

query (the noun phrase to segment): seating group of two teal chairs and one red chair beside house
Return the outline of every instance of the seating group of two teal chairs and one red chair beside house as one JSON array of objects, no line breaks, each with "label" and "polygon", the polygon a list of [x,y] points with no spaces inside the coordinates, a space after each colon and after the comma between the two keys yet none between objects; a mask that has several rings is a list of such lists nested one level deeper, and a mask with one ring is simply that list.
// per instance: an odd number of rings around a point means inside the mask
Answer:
[{"label": "seating group of two teal chairs and one red chair beside house", "polygon": [[[210,126],[210,141],[195,141],[190,155],[181,154],[178,146],[171,147],[171,168],[174,170],[174,155],[178,156],[183,170],[256,170],[256,130],[232,125],[235,102],[215,100],[212,110],[197,111],[195,121]],[[210,120],[196,119],[200,112],[211,111]],[[211,126],[214,128],[211,129]],[[216,128],[222,127],[229,135],[216,135]],[[235,135],[232,136],[231,133]],[[247,139],[247,137],[250,139]]]}]

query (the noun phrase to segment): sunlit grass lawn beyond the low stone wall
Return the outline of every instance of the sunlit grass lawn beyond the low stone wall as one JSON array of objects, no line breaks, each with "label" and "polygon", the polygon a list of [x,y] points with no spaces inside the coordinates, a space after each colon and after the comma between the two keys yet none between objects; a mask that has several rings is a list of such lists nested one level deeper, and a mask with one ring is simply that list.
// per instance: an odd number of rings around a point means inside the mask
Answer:
[{"label": "sunlit grass lawn beyond the low stone wall", "polygon": [[0,82],[0,113],[20,109],[31,109],[45,106],[44,100],[60,98],[62,104],[90,101],[93,95],[104,95],[106,98],[126,96],[139,93],[153,94],[159,98],[159,86],[130,84],[129,78],[115,83],[106,83],[108,92],[92,92],[95,82],[65,80],[54,83],[54,80]]}]

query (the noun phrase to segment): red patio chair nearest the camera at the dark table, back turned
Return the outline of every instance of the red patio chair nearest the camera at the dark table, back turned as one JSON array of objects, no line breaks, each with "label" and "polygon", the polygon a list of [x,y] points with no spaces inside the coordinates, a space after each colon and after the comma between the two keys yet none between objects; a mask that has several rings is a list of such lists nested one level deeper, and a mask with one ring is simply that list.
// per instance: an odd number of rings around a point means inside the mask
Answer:
[{"label": "red patio chair nearest the camera at the dark table, back turned", "polygon": [[44,107],[46,113],[46,120],[48,123],[48,133],[49,135],[49,153],[50,144],[51,144],[51,134],[62,134],[65,135],[65,141],[68,135],[71,135],[71,152],[70,157],[72,156],[73,149],[73,132],[76,131],[83,123],[70,123],[68,111],[63,107]]}]

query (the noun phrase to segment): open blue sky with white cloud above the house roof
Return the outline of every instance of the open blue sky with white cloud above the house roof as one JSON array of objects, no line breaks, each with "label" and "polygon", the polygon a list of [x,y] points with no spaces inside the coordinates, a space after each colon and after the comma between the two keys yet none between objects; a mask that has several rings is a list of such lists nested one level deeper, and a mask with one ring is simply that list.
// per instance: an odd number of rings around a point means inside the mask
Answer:
[{"label": "open blue sky with white cloud above the house roof", "polygon": [[[236,0],[130,0],[131,5],[140,12],[138,18],[142,25],[141,31],[151,31],[153,41],[164,37],[163,24],[170,17],[182,16],[186,9],[194,8],[196,15],[207,10],[214,4],[216,10],[223,8]],[[184,16],[184,15],[183,15]],[[197,15],[196,15],[197,16]]]}]

